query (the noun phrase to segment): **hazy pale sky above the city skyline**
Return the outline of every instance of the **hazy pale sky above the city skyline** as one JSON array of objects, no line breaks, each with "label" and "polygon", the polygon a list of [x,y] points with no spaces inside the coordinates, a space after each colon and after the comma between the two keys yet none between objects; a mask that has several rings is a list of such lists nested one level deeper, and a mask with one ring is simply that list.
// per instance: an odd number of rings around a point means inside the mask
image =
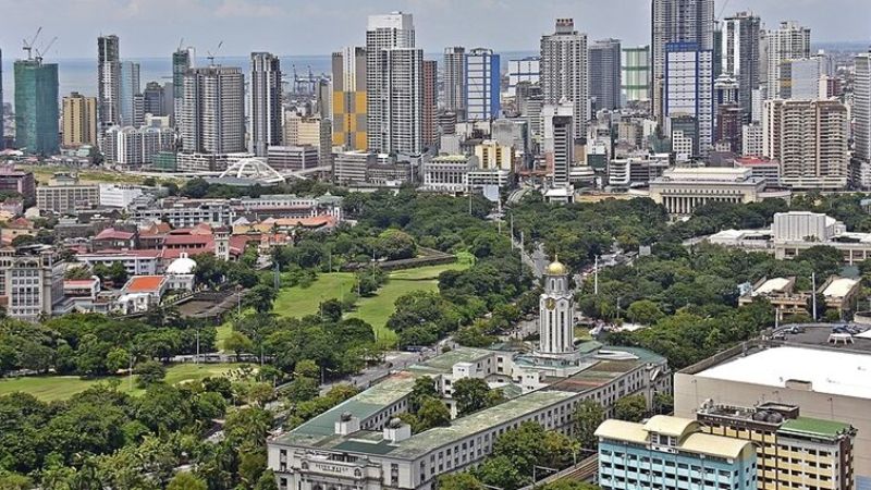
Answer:
[{"label": "hazy pale sky above the city skyline", "polygon": [[[42,26],[44,42],[58,36],[47,58],[95,57],[100,33],[121,37],[122,58],[167,56],[182,37],[200,53],[223,40],[222,56],[329,54],[364,42],[368,14],[393,10],[415,15],[427,52],[450,45],[537,50],[564,16],[593,39],[650,38],[650,0],[0,0],[0,48],[20,57],[22,39]],[[799,21],[814,42],[871,42],[871,0],[719,0],[721,10],[752,10],[769,25]]]}]

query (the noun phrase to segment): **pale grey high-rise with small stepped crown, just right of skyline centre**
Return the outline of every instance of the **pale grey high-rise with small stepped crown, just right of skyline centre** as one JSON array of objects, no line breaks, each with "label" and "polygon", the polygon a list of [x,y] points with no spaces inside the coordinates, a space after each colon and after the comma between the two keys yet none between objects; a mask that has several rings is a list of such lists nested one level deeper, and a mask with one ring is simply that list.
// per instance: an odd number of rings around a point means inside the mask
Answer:
[{"label": "pale grey high-rise with small stepped crown, just right of skyline centre", "polygon": [[541,37],[541,90],[544,103],[572,102],[575,139],[587,137],[587,35],[575,30],[572,19],[557,19],[554,34]]}]

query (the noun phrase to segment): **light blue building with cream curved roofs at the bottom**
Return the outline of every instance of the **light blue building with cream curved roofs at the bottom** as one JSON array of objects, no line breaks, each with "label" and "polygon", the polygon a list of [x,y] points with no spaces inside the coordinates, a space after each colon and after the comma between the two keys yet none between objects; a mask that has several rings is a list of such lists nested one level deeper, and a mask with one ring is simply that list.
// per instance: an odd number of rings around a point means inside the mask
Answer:
[{"label": "light blue building with cream curved roofs at the bottom", "polygon": [[698,421],[658,415],[647,424],[605,420],[599,438],[603,490],[756,490],[749,441],[701,432]]}]

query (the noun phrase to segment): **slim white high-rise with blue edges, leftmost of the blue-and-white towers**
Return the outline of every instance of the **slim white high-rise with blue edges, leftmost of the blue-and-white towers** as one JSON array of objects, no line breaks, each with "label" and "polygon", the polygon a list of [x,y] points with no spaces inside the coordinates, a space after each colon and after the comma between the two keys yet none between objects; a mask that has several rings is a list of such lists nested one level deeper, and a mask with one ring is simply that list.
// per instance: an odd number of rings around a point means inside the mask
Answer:
[{"label": "slim white high-rise with blue edges, leftmost of the blue-and-white towers", "polygon": [[464,107],[468,121],[491,121],[500,115],[499,54],[475,48],[466,54]]}]

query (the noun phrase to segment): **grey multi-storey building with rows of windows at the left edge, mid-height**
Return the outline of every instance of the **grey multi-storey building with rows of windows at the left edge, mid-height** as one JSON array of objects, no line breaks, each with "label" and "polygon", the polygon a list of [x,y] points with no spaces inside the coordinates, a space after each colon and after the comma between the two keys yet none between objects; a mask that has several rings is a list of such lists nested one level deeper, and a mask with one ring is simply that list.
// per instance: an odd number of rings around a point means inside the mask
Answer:
[{"label": "grey multi-storey building with rows of windows at the left edge, mid-height", "polygon": [[7,316],[38,321],[63,299],[66,264],[48,245],[0,249],[0,303]]}]

